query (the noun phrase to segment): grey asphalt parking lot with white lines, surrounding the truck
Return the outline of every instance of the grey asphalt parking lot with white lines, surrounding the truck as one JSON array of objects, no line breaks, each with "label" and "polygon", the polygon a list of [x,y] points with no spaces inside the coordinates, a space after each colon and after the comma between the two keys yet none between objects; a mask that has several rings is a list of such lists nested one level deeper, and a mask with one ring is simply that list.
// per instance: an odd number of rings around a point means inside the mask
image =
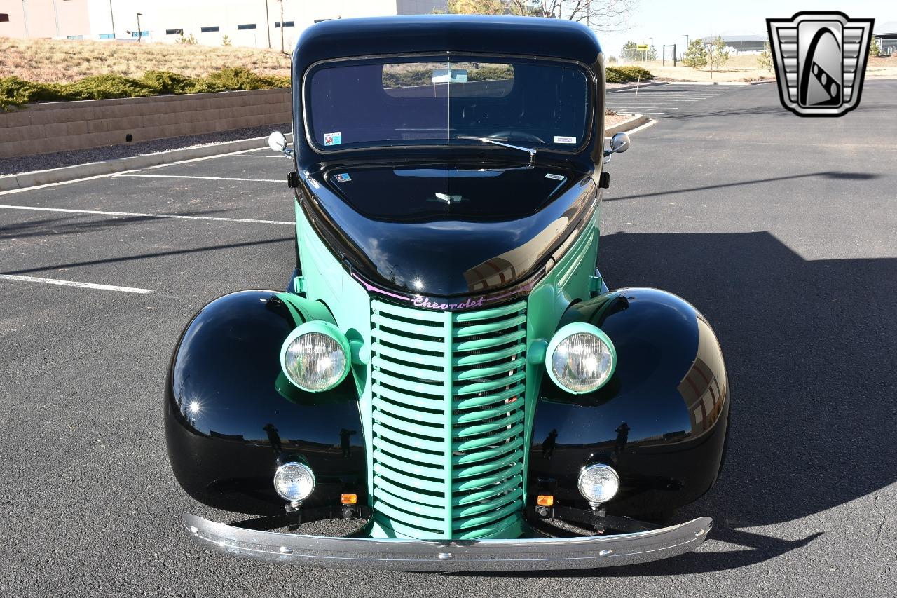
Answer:
[{"label": "grey asphalt parking lot with white lines, surrounding the truck", "polygon": [[792,115],[774,85],[727,87],[614,156],[602,274],[682,295],[713,323],[731,442],[717,486],[676,515],[714,517],[700,550],[550,576],[277,567],[181,531],[184,511],[235,517],[170,471],[170,351],[213,297],[286,285],[285,160],[0,194],[0,273],[99,286],[0,277],[0,594],[897,594],[895,133],[897,82],[867,82],[840,119]]}]

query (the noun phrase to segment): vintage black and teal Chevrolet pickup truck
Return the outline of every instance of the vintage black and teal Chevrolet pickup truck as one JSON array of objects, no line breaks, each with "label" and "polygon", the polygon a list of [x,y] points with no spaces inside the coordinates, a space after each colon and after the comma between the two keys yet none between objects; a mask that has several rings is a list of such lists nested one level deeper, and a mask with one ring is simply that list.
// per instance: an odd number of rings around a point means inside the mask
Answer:
[{"label": "vintage black and teal Chevrolet pickup truck", "polygon": [[[171,466],[199,544],[326,567],[604,567],[698,547],[659,527],[714,484],[710,324],[596,269],[605,57],[557,19],[321,22],[292,57],[295,270],[224,295],[171,359]],[[659,259],[659,256],[658,256]],[[247,264],[251,268],[251,264]],[[348,520],[345,536],[302,524]],[[645,521],[654,523],[645,523]],[[282,531],[277,531],[282,530]],[[298,531],[298,532],[297,532]]]}]

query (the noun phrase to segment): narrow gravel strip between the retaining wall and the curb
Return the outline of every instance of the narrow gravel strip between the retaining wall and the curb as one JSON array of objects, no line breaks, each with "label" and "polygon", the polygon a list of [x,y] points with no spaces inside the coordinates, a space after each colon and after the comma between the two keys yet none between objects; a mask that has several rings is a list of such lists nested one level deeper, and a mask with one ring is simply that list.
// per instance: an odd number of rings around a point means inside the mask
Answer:
[{"label": "narrow gravel strip between the retaining wall and the curb", "polygon": [[132,144],[106,145],[91,149],[56,152],[54,154],[23,155],[17,158],[0,160],[0,175],[20,174],[30,171],[46,171],[64,166],[74,166],[116,158],[127,158],[134,155],[154,154],[172,149],[180,149],[191,145],[208,145],[222,141],[237,141],[252,137],[267,136],[271,131],[279,130],[284,135],[291,131],[289,123],[283,125],[266,125],[265,127],[239,128],[232,131],[206,133],[205,135],[187,135],[170,137],[169,139],[153,139]]}]

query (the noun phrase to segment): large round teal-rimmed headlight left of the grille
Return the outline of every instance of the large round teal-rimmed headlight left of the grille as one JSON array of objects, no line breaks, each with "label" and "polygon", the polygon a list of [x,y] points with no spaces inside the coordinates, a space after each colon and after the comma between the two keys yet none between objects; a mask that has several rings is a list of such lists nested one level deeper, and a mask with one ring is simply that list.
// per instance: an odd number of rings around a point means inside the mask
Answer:
[{"label": "large round teal-rimmed headlight left of the grille", "polygon": [[281,347],[281,367],[303,391],[329,391],[349,374],[352,353],[342,332],[327,321],[307,321]]}]

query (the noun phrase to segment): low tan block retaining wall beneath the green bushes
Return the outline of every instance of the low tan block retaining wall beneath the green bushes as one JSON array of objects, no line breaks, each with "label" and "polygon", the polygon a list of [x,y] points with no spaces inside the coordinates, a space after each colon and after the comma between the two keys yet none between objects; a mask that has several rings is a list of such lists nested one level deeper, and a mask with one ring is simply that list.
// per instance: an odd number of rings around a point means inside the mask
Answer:
[{"label": "low tan block retaining wall beneath the green bushes", "polygon": [[53,101],[0,111],[0,158],[290,122],[290,90]]}]

